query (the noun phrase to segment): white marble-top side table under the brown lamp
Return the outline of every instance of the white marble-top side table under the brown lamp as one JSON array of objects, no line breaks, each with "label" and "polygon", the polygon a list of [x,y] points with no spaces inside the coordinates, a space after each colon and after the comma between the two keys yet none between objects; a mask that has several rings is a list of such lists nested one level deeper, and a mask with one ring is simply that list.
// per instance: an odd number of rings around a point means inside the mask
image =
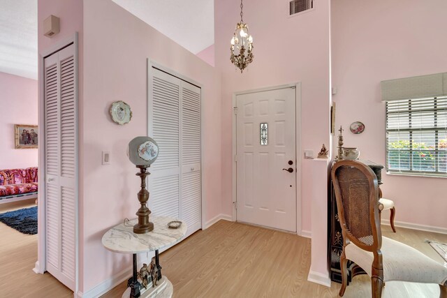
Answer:
[{"label": "white marble-top side table under the brown lamp", "polygon": [[[127,223],[121,223],[106,232],[102,243],[105,248],[115,253],[133,254],[133,276],[129,278],[127,290],[122,297],[172,297],[173,284],[166,276],[161,276],[161,266],[159,264],[159,249],[177,243],[186,234],[186,223],[177,229],[168,228],[170,221],[174,218],[167,216],[151,216],[150,221],[154,223],[154,230],[146,234],[135,234],[133,225],[137,219]],[[138,281],[137,254],[155,251],[155,264],[159,271],[158,285],[152,288],[149,283],[147,290]]]}]

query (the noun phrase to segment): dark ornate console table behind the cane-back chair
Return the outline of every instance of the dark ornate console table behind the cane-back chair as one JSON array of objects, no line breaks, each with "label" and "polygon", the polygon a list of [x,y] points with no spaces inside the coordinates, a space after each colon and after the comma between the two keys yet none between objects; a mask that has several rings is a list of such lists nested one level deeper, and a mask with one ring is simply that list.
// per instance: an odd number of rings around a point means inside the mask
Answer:
[{"label": "dark ornate console table behind the cane-back chair", "polygon": [[[380,190],[380,185],[382,182],[381,171],[383,165],[379,163],[374,163],[372,161],[360,160],[360,162],[365,163],[369,166],[371,170],[376,174],[377,182],[379,184],[379,198],[382,196]],[[335,200],[334,187],[332,186],[332,180],[330,182],[330,195],[328,198],[328,263],[330,267],[330,280],[337,283],[342,283],[342,271],[340,269],[340,255],[343,251],[343,236],[342,236],[342,226],[340,225],[337,211],[337,201]],[[365,271],[358,267],[356,263],[348,262],[348,284],[357,274],[364,274]]]}]

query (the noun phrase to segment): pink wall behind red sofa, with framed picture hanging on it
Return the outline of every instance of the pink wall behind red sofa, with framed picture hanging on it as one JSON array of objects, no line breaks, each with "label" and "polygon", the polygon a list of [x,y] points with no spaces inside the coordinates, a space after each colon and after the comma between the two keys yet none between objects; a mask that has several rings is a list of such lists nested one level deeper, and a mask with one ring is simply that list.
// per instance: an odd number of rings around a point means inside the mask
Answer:
[{"label": "pink wall behind red sofa, with framed picture hanging on it", "polygon": [[0,169],[36,167],[37,149],[15,149],[14,124],[37,125],[37,81],[0,73]]}]

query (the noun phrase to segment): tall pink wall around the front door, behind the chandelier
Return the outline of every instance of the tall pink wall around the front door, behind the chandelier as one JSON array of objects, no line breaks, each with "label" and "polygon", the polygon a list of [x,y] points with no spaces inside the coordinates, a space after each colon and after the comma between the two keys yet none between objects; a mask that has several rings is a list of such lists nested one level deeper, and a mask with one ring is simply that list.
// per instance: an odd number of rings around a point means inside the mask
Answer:
[{"label": "tall pink wall around the front door, behind the chandelier", "polygon": [[[222,72],[222,210],[232,214],[233,93],[295,82],[302,83],[301,148],[329,144],[330,110],[330,1],[314,1],[307,13],[288,17],[280,1],[244,1],[244,22],[254,38],[254,61],[244,73],[230,63],[230,38],[240,21],[240,2],[215,1],[216,66]],[[302,156],[297,156],[302,158]],[[312,166],[312,164],[309,164]],[[302,165],[302,230],[311,230],[312,179]],[[324,173],[323,173],[324,174]],[[315,186],[316,187],[316,186]]]}]

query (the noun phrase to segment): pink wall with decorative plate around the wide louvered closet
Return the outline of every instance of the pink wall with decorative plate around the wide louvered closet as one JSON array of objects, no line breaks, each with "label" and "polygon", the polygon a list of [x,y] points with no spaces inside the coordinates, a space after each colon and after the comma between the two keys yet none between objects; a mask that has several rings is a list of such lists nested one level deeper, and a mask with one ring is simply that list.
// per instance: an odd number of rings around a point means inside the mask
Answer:
[{"label": "pink wall with decorative plate around the wide louvered closet", "polygon": [[[133,137],[147,134],[147,58],[203,84],[205,221],[221,213],[221,77],[205,61],[112,1],[85,1],[84,29],[82,291],[87,292],[131,266],[130,255],[107,251],[101,238],[124,218],[135,218],[138,209],[137,169],[127,158],[126,147]],[[110,120],[108,110],[115,100],[131,106],[129,124],[118,126]],[[101,165],[101,151],[110,151],[110,165]]]}]

